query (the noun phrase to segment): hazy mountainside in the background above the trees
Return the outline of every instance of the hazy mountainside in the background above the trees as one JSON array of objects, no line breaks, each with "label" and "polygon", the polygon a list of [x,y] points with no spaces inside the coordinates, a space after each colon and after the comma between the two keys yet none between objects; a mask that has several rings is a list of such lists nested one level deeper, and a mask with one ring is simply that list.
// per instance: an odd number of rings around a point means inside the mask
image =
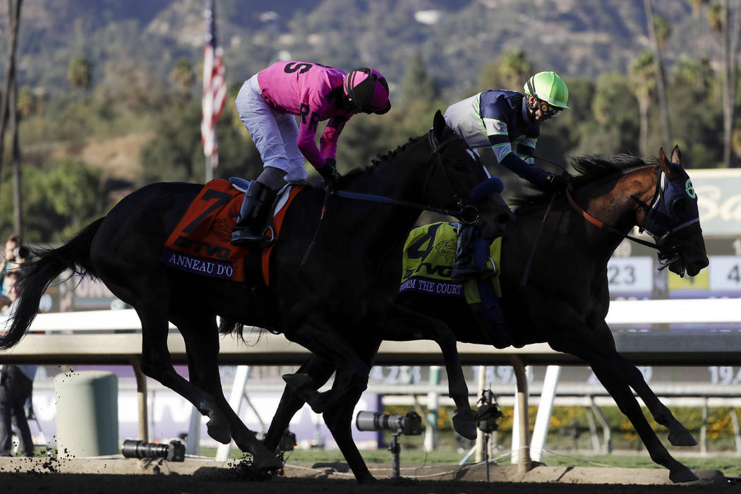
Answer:
[{"label": "hazy mountainside in the background above the trees", "polygon": [[[203,10],[203,0],[24,0],[19,82],[68,92],[69,61],[84,56],[93,84],[135,69],[167,83],[179,59],[200,66]],[[720,58],[718,36],[688,1],[654,0],[654,10],[672,25],[668,64]],[[419,54],[451,99],[515,48],[567,78],[625,72],[648,49],[643,0],[216,0],[216,20],[230,84],[278,59],[371,65],[398,83]],[[4,9],[0,30],[5,53]]]}]

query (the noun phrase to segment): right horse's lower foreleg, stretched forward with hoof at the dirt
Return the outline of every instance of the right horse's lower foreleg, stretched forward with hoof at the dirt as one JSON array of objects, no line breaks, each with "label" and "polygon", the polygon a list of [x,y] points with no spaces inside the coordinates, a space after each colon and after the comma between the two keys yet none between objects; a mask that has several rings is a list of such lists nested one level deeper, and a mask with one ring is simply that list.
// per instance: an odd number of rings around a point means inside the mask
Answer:
[{"label": "right horse's lower foreleg, stretched forward with hoof at the dirt", "polygon": [[619,410],[628,417],[633,427],[638,433],[641,441],[648,450],[651,460],[669,470],[669,478],[672,482],[688,482],[697,480],[697,475],[674,459],[666,450],[664,445],[659,441],[656,433],[648,424],[637,399],[633,395],[631,388],[623,381],[622,375],[614,366],[606,366],[604,358],[601,358],[593,349],[583,347],[584,342],[564,342],[551,343],[554,350],[571,353],[572,355],[582,358],[591,364],[594,375],[597,375],[599,382],[605,387],[605,390],[614,398]]}]

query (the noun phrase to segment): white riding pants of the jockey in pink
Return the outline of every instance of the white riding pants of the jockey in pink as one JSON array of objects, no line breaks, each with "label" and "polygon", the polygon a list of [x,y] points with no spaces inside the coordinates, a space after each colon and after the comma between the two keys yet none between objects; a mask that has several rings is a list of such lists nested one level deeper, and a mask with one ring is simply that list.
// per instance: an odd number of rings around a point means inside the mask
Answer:
[{"label": "white riding pants of the jockey in pink", "polygon": [[262,99],[257,74],[242,84],[235,103],[239,119],[247,127],[263,166],[285,171],[285,181],[306,180],[309,176],[304,167],[306,158],[296,144],[299,137],[296,117],[275,110]]}]

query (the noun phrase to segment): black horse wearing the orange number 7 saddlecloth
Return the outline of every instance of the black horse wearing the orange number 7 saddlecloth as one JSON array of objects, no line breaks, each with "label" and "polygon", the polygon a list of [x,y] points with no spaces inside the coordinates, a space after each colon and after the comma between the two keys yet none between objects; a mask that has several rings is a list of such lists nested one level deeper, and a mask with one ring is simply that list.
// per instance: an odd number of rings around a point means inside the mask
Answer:
[{"label": "black horse wearing the orange number 7 saddlecloth", "polygon": [[[247,282],[236,283],[160,264],[167,237],[202,186],[148,185],[122,199],[107,216],[67,244],[38,252],[39,259],[27,267],[20,282],[19,307],[10,328],[0,335],[0,348],[10,348],[24,336],[41,295],[64,270],[100,278],[142,321],[142,372],[207,415],[212,438],[224,444],[233,438],[242,451],[253,454],[255,467],[278,468],[275,455],[245,427],[222,393],[216,316],[222,317],[222,332],[241,334],[242,325],[279,329],[291,341],[330,361],[338,370],[336,385],[326,395],[313,396],[312,404],[325,412],[330,430],[342,436],[350,429],[349,420],[341,423],[342,408],[365,390],[370,371],[356,352],[357,336],[376,333],[387,337],[401,327],[449,332],[442,321],[394,304],[400,278],[397,260],[420,212],[409,204],[477,212],[486,236],[506,233],[514,216],[499,196],[471,204],[471,191],[487,178],[476,154],[437,112],[428,134],[410,139],[372,167],[353,170],[339,183],[342,190],[406,204],[348,203],[339,197],[330,197],[325,204],[325,191],[313,187],[296,195],[281,238],[273,246],[269,289],[259,270],[248,270]],[[315,247],[302,263],[325,205]],[[167,321],[185,340],[190,381],[178,375],[170,362]],[[446,349],[445,358],[451,370],[451,395],[460,407],[459,429],[475,435],[457,353]],[[299,392],[313,390],[312,383],[301,376],[289,381]],[[365,472],[359,475],[370,475]]]}]

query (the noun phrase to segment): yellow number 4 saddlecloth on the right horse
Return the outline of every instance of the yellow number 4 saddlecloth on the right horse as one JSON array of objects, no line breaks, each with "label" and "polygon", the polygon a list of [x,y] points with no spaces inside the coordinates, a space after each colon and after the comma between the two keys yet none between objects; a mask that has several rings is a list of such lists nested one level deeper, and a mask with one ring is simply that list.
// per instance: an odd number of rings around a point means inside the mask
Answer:
[{"label": "yellow number 4 saddlecloth on the right horse", "polygon": [[[463,284],[451,281],[456,261],[458,226],[458,223],[440,222],[411,230],[404,245],[399,293],[465,298],[491,344],[497,348],[508,347],[511,338],[505,327],[499,300],[502,296],[499,276],[469,280]],[[482,267],[492,262],[496,267],[501,253],[502,238],[496,238],[491,245],[484,238],[476,238],[473,243],[473,264]]]}]

